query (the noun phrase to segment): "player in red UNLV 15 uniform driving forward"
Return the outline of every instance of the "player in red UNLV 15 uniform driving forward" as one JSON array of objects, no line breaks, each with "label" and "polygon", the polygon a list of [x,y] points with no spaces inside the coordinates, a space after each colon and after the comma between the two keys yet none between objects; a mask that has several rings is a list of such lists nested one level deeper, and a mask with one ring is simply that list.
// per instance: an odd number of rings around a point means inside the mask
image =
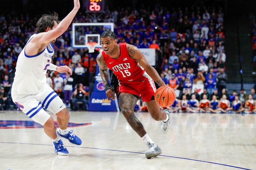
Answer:
[{"label": "player in red UNLV 15 uniform driving forward", "polygon": [[114,88],[108,82],[109,68],[113,70],[119,81],[119,105],[124,117],[132,129],[148,145],[149,149],[145,152],[146,158],[158,156],[162,151],[150,139],[143,125],[134,115],[134,108],[141,95],[152,118],[156,121],[162,121],[161,130],[163,133],[167,133],[170,125],[170,113],[168,110],[160,110],[154,100],[156,91],[154,81],[159,86],[164,86],[163,80],[157,71],[148,64],[137,47],[126,43],[117,44],[114,32],[103,32],[100,35],[100,43],[103,51],[98,55],[97,63],[100,66],[100,76],[105,85],[108,100],[115,100]]}]

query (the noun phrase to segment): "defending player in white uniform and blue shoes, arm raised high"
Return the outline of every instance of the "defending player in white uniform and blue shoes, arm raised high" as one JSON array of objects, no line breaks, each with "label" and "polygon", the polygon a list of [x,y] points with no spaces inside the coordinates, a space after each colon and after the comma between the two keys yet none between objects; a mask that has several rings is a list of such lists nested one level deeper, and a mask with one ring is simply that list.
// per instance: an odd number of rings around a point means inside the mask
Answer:
[{"label": "defending player in white uniform and blue shoes, arm raised high", "polygon": [[[60,23],[57,13],[43,15],[37,21],[37,33],[29,38],[18,57],[12,85],[13,102],[29,118],[44,126],[44,132],[52,138],[57,155],[69,154],[60,137],[77,145],[82,141],[72,133],[73,130],[67,129],[69,112],[60,97],[47,85],[45,74],[49,69],[72,75],[68,66],[57,67],[51,63],[54,53],[52,42],[68,29],[79,8],[79,0],[74,0],[73,10]],[[60,125],[57,133],[52,117],[43,108],[57,116]]]}]

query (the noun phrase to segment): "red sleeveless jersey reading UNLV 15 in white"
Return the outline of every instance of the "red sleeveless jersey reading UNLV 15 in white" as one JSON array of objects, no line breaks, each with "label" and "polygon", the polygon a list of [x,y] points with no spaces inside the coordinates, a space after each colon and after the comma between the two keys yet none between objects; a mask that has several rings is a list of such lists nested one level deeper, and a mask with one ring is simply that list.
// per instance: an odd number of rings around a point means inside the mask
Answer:
[{"label": "red sleeveless jersey reading UNLV 15 in white", "polygon": [[141,81],[148,78],[148,74],[143,67],[130,58],[126,43],[120,43],[121,54],[118,59],[111,58],[102,51],[105,62],[110,70],[113,70],[119,82]]}]

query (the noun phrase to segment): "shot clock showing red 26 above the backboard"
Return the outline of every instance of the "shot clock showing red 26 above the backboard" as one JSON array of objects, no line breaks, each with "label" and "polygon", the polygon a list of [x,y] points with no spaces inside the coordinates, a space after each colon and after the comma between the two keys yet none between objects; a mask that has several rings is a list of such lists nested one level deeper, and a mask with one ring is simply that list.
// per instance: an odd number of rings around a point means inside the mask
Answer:
[{"label": "shot clock showing red 26 above the backboard", "polygon": [[86,0],[86,12],[104,12],[105,0]]}]

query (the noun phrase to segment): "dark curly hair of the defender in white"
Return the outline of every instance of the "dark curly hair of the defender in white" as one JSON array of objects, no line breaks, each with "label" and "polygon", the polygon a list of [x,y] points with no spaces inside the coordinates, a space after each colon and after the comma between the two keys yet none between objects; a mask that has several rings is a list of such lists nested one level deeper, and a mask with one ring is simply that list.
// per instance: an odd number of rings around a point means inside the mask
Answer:
[{"label": "dark curly hair of the defender in white", "polygon": [[53,12],[52,14],[44,14],[36,23],[36,33],[45,32],[46,28],[49,26],[51,29],[54,26],[54,23],[59,24],[58,14]]}]

